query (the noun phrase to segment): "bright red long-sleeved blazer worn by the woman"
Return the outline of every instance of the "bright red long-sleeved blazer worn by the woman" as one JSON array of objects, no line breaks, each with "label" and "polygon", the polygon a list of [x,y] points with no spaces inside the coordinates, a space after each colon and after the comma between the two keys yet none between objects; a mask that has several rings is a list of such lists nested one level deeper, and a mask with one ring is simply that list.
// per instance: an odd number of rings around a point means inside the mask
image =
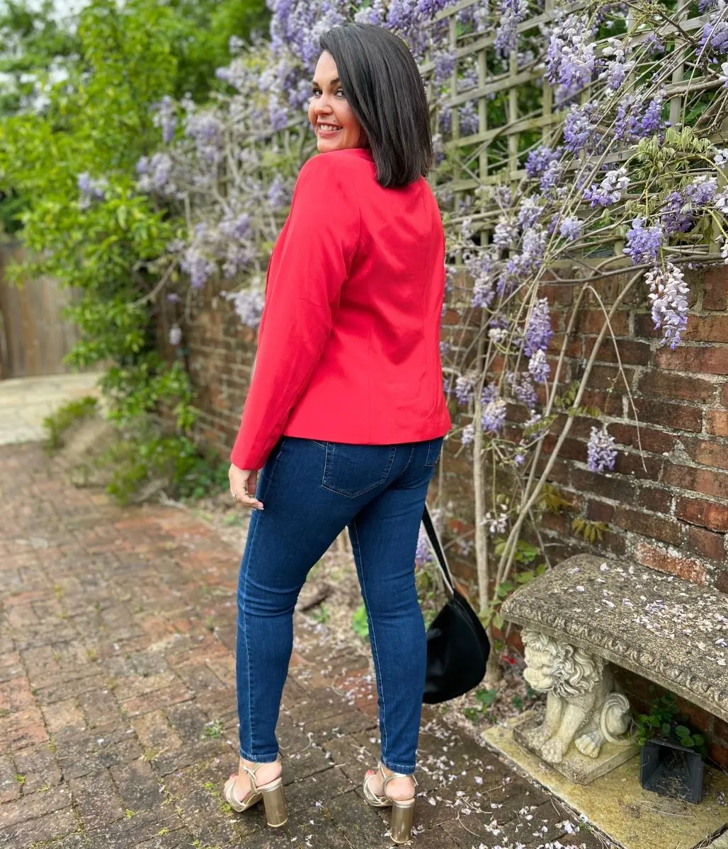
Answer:
[{"label": "bright red long-sleeved blazer worn by the woman", "polygon": [[424,178],[382,188],[360,148],[308,160],[268,264],[232,462],[261,469],[281,435],[361,445],[444,436],[444,278],[443,224]]}]

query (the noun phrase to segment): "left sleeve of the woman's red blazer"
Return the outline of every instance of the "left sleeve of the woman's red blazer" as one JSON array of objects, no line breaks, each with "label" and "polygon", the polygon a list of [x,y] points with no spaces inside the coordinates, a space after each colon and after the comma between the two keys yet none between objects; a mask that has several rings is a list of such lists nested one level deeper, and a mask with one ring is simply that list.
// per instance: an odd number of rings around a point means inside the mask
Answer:
[{"label": "left sleeve of the woman's red blazer", "polygon": [[239,469],[261,469],[282,435],[324,353],[357,249],[356,195],[341,163],[327,156],[314,156],[299,172],[271,267],[254,374],[230,454]]}]

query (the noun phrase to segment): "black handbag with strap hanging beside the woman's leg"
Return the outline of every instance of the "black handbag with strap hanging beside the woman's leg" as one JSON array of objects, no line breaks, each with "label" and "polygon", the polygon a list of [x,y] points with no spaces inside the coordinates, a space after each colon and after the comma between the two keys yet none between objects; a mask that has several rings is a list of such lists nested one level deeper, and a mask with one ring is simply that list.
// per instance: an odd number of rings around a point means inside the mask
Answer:
[{"label": "black handbag with strap hanging beside the woman's leg", "polygon": [[483,681],[490,642],[477,613],[454,587],[443,546],[437,537],[427,505],[422,514],[422,523],[445,584],[452,593],[448,603],[427,629],[427,668],[422,701],[426,705],[436,705],[467,693]]}]

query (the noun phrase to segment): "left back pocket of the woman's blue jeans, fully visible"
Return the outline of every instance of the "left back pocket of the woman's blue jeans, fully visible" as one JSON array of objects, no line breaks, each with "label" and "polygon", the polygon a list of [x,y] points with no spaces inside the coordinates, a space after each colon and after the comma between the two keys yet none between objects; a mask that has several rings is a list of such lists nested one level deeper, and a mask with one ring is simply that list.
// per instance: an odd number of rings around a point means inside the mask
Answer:
[{"label": "left back pocket of the woman's blue jeans, fully visible", "polygon": [[381,486],[392,469],[393,445],[328,442],[321,486],[346,498],[357,498]]}]

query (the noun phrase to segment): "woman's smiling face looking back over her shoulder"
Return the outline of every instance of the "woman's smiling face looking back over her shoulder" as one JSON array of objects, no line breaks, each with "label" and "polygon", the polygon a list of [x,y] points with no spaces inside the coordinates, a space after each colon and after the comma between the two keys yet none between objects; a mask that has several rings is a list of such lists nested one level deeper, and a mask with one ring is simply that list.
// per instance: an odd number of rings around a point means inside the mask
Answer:
[{"label": "woman's smiling face looking back over her shoulder", "polygon": [[320,154],[364,146],[362,126],[341,88],[334,57],[325,50],[313,74],[308,120],[316,133],[316,147]]}]

